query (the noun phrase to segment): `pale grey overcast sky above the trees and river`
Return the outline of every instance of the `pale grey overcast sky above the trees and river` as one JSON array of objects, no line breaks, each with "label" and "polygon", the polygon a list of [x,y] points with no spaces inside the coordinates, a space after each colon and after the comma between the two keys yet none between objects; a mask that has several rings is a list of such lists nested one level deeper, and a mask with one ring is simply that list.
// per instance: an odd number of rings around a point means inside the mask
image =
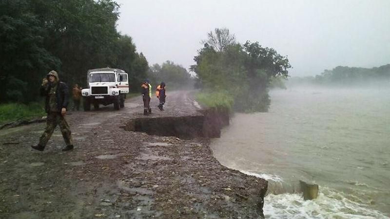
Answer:
[{"label": "pale grey overcast sky above the trees and river", "polygon": [[390,63],[390,0],[117,0],[117,29],[150,65],[187,68],[215,28],[288,55],[291,76]]}]

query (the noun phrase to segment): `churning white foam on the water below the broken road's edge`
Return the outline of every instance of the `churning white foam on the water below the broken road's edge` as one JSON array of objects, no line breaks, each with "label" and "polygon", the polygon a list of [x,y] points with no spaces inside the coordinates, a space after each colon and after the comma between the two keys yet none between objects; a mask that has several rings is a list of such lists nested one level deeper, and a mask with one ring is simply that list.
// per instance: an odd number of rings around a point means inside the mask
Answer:
[{"label": "churning white foam on the water below the broken road's edge", "polygon": [[269,194],[264,199],[266,219],[390,219],[370,206],[351,201],[342,193],[320,188],[317,199],[304,201],[301,194]]}]

